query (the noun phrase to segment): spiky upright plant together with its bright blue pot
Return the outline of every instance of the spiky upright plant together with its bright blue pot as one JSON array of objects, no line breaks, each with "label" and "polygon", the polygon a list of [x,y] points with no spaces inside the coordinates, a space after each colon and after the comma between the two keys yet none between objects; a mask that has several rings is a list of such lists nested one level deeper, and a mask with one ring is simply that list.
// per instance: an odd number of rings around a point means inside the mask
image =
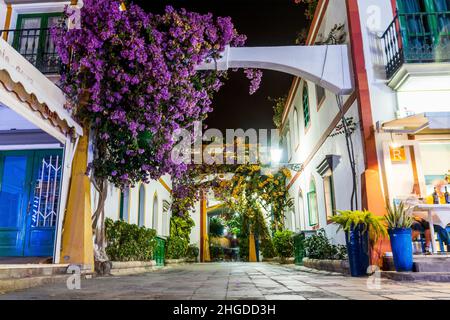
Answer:
[{"label": "spiky upright plant together with its bright blue pot", "polygon": [[395,270],[412,271],[412,230],[413,217],[408,215],[405,204],[398,205],[392,203],[387,208],[385,220],[388,227],[389,238],[391,240],[392,255],[394,256]]}]

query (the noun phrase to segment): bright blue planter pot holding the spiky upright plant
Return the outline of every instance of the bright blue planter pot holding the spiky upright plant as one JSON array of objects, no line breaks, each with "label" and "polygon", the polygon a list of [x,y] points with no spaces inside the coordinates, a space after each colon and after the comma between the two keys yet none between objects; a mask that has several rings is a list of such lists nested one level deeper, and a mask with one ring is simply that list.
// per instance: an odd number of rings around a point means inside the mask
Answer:
[{"label": "bright blue planter pot holding the spiky upright plant", "polygon": [[392,255],[394,256],[395,270],[412,271],[413,252],[411,229],[390,229],[389,238],[391,239]]}]

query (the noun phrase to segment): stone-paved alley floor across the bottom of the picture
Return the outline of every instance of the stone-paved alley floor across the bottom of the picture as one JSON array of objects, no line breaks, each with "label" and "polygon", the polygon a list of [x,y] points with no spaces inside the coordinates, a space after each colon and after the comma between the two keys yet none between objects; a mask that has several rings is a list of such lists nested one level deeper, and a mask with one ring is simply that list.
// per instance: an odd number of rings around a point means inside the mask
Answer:
[{"label": "stone-paved alley floor across the bottom of the picture", "polygon": [[80,290],[65,283],[0,295],[0,299],[183,299],[183,300],[450,300],[449,283],[396,282],[266,263],[181,265],[132,276],[82,280]]}]

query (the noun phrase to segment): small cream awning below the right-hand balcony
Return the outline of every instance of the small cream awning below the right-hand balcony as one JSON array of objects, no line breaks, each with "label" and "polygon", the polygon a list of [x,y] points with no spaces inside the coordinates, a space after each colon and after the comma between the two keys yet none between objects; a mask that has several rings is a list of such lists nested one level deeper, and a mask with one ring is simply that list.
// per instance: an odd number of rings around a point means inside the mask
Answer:
[{"label": "small cream awning below the right-hand balcony", "polygon": [[422,130],[450,130],[450,112],[425,112],[383,123],[382,130],[416,134]]}]

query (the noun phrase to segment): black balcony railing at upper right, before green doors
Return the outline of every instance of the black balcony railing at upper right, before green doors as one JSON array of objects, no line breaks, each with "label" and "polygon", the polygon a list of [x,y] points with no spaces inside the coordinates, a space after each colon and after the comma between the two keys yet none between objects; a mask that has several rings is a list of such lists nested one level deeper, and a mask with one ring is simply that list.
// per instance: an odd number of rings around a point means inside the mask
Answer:
[{"label": "black balcony railing at upper right, before green doors", "polygon": [[450,11],[397,13],[381,36],[386,76],[404,63],[450,61]]}]

